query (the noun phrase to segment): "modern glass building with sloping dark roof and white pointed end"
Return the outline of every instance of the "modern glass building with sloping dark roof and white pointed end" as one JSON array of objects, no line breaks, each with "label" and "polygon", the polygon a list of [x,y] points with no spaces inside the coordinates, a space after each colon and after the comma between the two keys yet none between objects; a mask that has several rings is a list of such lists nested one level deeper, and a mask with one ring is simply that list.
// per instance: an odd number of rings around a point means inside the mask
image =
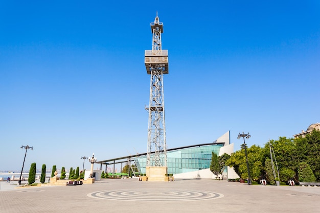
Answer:
[{"label": "modern glass building with sloping dark roof and white pointed end", "polygon": [[[218,156],[233,152],[233,144],[230,144],[230,131],[220,136],[213,143],[167,149],[167,173],[174,174],[175,177],[179,178],[188,178],[190,173],[205,172],[204,170],[210,168],[212,152]],[[131,165],[133,162],[138,167],[140,174],[146,174],[147,153],[102,160],[96,163],[100,164],[101,170],[102,165],[105,165],[105,172],[107,172],[107,166],[113,166],[113,171],[115,171],[115,165],[121,164],[122,170],[123,163]]]}]

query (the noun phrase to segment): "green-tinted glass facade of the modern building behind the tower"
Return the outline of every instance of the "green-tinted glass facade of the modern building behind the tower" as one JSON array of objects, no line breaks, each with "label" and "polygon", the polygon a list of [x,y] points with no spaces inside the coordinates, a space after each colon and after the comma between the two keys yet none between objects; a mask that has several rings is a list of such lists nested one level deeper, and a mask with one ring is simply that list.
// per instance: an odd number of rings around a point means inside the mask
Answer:
[{"label": "green-tinted glass facade of the modern building behind the tower", "polygon": [[[193,172],[210,168],[212,152],[219,154],[223,144],[212,144],[167,151],[168,174]],[[146,156],[134,158],[140,173],[146,173]]]}]

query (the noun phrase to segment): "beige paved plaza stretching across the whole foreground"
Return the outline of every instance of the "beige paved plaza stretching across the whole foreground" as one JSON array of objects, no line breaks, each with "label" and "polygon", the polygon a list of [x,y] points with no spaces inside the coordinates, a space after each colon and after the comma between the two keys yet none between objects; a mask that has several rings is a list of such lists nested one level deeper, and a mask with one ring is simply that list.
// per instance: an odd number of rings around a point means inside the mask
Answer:
[{"label": "beige paved plaza stretching across the whole foreground", "polygon": [[0,182],[0,212],[320,212],[320,187],[211,179],[106,179],[75,186]]}]

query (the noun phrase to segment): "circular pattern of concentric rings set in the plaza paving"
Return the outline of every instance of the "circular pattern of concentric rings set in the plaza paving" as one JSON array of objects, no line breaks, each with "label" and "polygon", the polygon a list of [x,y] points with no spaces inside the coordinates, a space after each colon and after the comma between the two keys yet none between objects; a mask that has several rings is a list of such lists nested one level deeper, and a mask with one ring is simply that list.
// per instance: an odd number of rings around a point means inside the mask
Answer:
[{"label": "circular pattern of concentric rings set in the plaza paving", "polygon": [[134,189],[112,190],[87,194],[88,197],[119,200],[119,201],[199,201],[222,198],[223,195],[214,192],[170,190],[170,189]]}]

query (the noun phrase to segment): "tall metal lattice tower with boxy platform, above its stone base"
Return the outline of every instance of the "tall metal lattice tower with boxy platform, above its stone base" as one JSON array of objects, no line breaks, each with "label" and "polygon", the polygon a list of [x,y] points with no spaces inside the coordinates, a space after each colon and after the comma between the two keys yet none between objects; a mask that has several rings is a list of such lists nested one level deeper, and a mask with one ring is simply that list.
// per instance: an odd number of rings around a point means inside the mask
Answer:
[{"label": "tall metal lattice tower with boxy platform, above its stone base", "polygon": [[[161,34],[163,24],[158,14],[150,23],[152,50],[145,51],[145,65],[150,74],[147,167],[167,167],[165,102],[163,75],[168,74],[168,50],[162,50]],[[152,154],[152,155],[151,155]]]}]

